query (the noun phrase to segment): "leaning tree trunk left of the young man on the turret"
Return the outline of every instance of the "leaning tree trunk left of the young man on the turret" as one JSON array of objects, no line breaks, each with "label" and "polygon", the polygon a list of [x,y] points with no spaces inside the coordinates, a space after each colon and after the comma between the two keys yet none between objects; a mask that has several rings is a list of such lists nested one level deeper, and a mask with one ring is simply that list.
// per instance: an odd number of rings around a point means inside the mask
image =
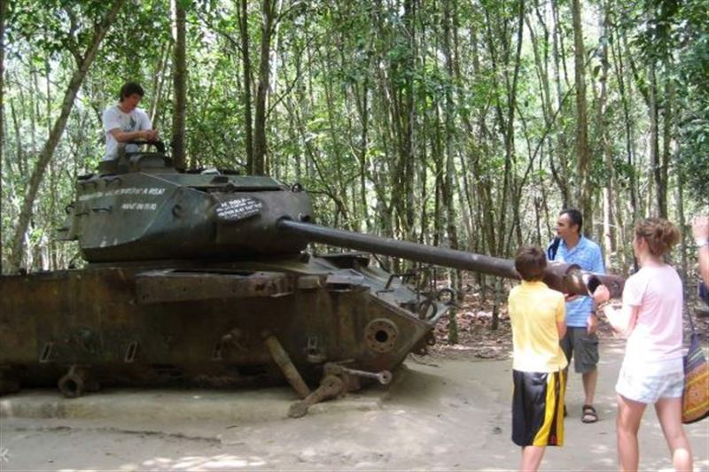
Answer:
[{"label": "leaning tree trunk left of the young man on the turret", "polygon": [[30,218],[32,217],[32,207],[35,204],[35,198],[37,197],[37,192],[39,186],[42,183],[44,176],[44,171],[50,163],[51,157],[54,154],[54,150],[57,148],[57,144],[61,135],[64,133],[64,128],[66,127],[66,120],[69,118],[69,113],[74,107],[74,98],[82,85],[82,81],[89,71],[89,67],[96,58],[96,53],[98,46],[104,39],[105,34],[108,29],[113,25],[118,12],[121,10],[121,6],[125,0],[116,0],[113,3],[113,8],[109,12],[105,19],[101,21],[94,30],[94,36],[91,40],[90,46],[87,48],[85,54],[81,58],[81,62],[77,65],[77,69],[72,74],[72,78],[66,87],[66,92],[64,94],[64,100],[62,101],[61,112],[57,120],[54,122],[54,126],[51,128],[51,133],[47,142],[44,143],[42,151],[40,152],[39,159],[35,164],[35,168],[32,171],[32,175],[29,178],[29,183],[27,184],[27,193],[22,201],[22,209],[19,213],[19,219],[17,222],[17,228],[15,229],[15,234],[12,237],[12,254],[10,256],[10,271],[16,273],[22,264],[22,253],[24,249],[25,234],[27,233],[27,227],[29,226]]}]

